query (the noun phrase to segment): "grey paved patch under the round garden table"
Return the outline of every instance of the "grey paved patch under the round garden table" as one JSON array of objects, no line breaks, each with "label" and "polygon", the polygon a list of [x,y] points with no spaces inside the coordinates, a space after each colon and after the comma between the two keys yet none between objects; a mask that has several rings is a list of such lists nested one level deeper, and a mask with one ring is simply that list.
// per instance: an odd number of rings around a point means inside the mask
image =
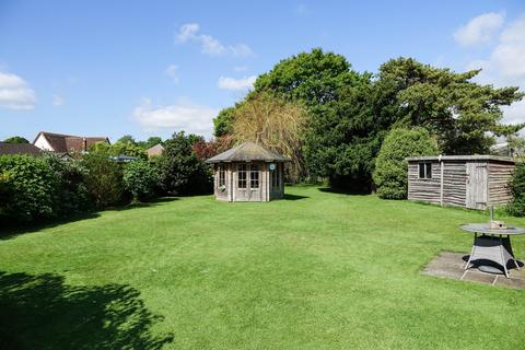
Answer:
[{"label": "grey paved patch under the round garden table", "polygon": [[[510,264],[508,266],[510,278],[508,279],[504,275],[480,271],[474,264],[465,270],[466,261],[468,261],[468,253],[442,252],[424,267],[421,273],[489,285],[525,289],[525,269],[523,268],[518,270]],[[521,266],[523,265],[521,264]]]}]

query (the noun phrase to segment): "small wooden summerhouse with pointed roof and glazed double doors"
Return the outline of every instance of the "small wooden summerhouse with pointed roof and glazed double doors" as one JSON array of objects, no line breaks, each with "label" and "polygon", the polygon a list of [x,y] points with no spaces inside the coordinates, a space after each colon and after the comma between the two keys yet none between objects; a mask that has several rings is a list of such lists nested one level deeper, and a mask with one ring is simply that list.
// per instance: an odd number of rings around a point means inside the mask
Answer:
[{"label": "small wooden summerhouse with pointed roof and glazed double doors", "polygon": [[269,201],[284,197],[284,163],[290,160],[247,141],[207,161],[213,164],[214,195],[225,201]]}]

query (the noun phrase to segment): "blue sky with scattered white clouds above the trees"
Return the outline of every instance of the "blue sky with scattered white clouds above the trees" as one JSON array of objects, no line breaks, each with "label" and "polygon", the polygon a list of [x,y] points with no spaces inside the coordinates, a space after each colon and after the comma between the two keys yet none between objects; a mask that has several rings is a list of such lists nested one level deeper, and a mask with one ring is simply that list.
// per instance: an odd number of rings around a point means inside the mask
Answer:
[{"label": "blue sky with scattered white clouds above the trees", "polygon": [[525,2],[0,0],[0,139],[209,137],[256,75],[313,47],[359,71],[410,56],[525,89]]}]

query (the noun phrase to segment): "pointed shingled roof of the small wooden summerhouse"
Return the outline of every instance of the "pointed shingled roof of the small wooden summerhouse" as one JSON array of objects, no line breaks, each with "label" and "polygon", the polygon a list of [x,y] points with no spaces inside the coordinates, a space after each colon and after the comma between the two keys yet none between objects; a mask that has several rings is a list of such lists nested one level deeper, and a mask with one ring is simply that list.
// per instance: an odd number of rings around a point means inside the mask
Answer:
[{"label": "pointed shingled roof of the small wooden summerhouse", "polygon": [[290,159],[270,151],[260,144],[246,141],[225,152],[207,160],[207,163],[229,163],[229,162],[290,162]]}]

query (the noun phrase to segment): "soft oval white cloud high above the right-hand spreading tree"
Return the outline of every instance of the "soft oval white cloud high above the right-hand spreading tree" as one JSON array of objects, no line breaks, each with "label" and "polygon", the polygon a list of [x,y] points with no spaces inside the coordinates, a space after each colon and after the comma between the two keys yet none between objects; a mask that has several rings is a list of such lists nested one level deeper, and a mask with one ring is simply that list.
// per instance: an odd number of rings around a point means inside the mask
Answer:
[{"label": "soft oval white cloud high above the right-hand spreading tree", "polygon": [[488,44],[504,22],[504,13],[489,12],[471,19],[454,33],[454,38],[462,46]]}]

